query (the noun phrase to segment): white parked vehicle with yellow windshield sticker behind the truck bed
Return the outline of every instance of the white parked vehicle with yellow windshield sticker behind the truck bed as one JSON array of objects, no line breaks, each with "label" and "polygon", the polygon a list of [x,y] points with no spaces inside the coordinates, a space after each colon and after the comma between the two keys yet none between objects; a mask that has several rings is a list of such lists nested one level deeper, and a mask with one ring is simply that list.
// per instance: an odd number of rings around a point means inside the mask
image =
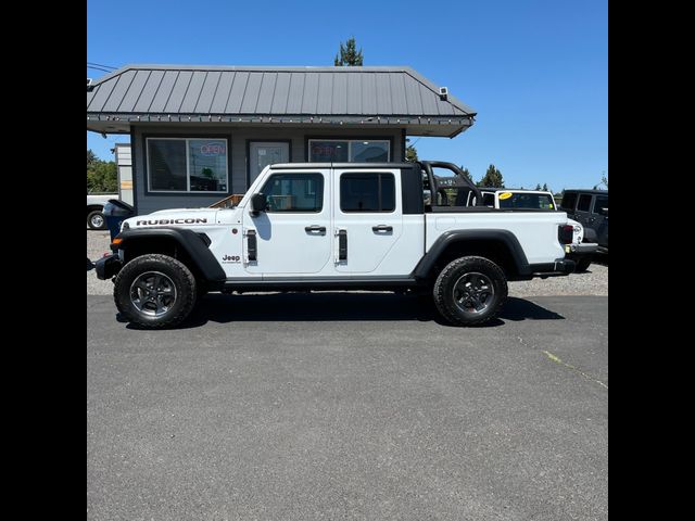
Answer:
[{"label": "white parked vehicle with yellow windshield sticker behind the truck bed", "polygon": [[[482,203],[485,206],[503,209],[542,209],[557,211],[555,199],[551,192],[543,190],[522,190],[510,188],[481,188]],[[586,271],[596,253],[598,244],[585,242],[584,227],[581,223],[569,218],[573,227],[572,243],[565,247],[566,256],[577,263],[576,272]]]}]

